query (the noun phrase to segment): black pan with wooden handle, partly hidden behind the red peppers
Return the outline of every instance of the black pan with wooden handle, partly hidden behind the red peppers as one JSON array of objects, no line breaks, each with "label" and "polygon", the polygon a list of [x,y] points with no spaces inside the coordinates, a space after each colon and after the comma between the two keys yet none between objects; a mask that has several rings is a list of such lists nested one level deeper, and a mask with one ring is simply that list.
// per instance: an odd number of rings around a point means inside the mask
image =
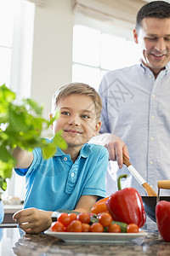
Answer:
[{"label": "black pan with wooden handle, partly hidden behind the red peppers", "polygon": [[149,218],[156,222],[156,203],[158,201],[170,201],[170,196],[159,196],[160,189],[170,189],[170,180],[160,180],[157,183],[158,196],[141,196],[144,210]]}]

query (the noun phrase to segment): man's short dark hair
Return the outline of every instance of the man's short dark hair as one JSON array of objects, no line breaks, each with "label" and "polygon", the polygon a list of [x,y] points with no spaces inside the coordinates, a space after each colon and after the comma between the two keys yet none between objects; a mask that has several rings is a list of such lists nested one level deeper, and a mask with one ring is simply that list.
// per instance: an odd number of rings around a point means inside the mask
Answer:
[{"label": "man's short dark hair", "polygon": [[142,27],[142,20],[146,17],[158,19],[170,18],[170,3],[165,1],[153,1],[144,4],[144,6],[139,9],[136,17],[136,30]]}]

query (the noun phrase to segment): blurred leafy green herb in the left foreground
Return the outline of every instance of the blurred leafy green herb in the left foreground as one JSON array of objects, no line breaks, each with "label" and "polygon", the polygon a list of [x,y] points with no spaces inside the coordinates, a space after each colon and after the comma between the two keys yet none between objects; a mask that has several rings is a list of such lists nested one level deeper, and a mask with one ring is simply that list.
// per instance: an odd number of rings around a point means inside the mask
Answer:
[{"label": "blurred leafy green herb in the left foreground", "polygon": [[48,143],[41,137],[42,130],[48,129],[59,113],[50,121],[42,118],[42,107],[31,99],[22,99],[16,104],[16,95],[5,84],[0,86],[0,188],[7,189],[6,178],[12,176],[16,160],[13,157],[17,146],[31,151],[42,148],[44,159],[51,157],[57,147],[65,149],[67,144],[58,131]]}]

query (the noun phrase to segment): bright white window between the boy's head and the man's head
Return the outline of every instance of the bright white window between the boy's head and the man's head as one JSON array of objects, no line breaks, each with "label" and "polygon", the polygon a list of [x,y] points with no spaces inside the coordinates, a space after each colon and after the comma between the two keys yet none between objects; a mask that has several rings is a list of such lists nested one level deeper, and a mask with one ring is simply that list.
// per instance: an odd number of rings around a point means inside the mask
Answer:
[{"label": "bright white window between the boy's head and the man's head", "polygon": [[91,84],[98,90],[105,73],[138,62],[139,47],[133,41],[90,26],[74,26],[73,82]]}]

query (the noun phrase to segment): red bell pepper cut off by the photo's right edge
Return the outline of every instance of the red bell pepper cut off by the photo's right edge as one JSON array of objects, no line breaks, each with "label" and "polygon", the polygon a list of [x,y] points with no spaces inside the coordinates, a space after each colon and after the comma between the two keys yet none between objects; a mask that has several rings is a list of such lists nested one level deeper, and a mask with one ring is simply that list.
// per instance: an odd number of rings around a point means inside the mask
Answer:
[{"label": "red bell pepper cut off by the photo's right edge", "polygon": [[161,237],[170,241],[170,202],[159,201],[156,204],[156,224]]}]

